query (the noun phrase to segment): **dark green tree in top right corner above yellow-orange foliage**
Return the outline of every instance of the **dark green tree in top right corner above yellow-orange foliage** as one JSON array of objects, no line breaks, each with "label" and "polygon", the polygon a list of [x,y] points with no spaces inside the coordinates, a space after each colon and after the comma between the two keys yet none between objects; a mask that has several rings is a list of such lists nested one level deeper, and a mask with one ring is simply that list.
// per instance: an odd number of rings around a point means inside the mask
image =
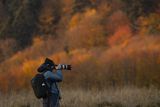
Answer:
[{"label": "dark green tree in top right corner above yellow-orange foliage", "polygon": [[156,11],[159,0],[122,0],[124,3],[123,10],[128,14],[133,28],[137,28],[136,20],[140,16],[148,16],[151,12]]}]

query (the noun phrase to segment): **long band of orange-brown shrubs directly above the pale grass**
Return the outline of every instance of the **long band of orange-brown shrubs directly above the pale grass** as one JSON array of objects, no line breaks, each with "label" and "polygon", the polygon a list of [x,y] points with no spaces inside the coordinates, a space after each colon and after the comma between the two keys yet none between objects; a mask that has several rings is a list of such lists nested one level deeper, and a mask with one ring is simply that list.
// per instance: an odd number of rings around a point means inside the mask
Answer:
[{"label": "long band of orange-brown shrubs directly above the pale grass", "polygon": [[[109,49],[74,49],[69,54],[60,51],[48,57],[53,59],[56,64],[71,64],[73,66],[71,72],[64,72],[65,80],[62,85],[67,87],[72,85],[72,87],[99,88],[110,85],[124,86],[127,83],[144,86],[160,82],[158,76],[160,38],[132,37],[128,40],[127,46],[120,44]],[[26,50],[23,52],[26,53]],[[14,57],[14,60],[8,60],[0,65],[1,70],[5,70],[0,76],[0,90],[9,91],[10,87],[16,90],[30,87],[30,79],[46,56],[26,59],[21,56],[23,52],[19,54],[23,60]],[[26,54],[30,55],[30,53]],[[20,62],[15,63],[17,60]],[[12,81],[5,78],[10,78]],[[158,83],[154,85],[159,86]]]}]

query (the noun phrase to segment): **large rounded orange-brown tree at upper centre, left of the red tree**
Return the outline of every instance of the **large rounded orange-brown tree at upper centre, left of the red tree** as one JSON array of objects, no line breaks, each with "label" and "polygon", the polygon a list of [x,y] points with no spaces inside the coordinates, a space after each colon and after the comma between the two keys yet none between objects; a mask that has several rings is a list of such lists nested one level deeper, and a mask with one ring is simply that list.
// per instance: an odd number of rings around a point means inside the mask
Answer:
[{"label": "large rounded orange-brown tree at upper centre, left of the red tree", "polygon": [[104,45],[105,36],[100,18],[95,9],[88,9],[85,13],[73,16],[66,32],[70,47],[90,48]]}]

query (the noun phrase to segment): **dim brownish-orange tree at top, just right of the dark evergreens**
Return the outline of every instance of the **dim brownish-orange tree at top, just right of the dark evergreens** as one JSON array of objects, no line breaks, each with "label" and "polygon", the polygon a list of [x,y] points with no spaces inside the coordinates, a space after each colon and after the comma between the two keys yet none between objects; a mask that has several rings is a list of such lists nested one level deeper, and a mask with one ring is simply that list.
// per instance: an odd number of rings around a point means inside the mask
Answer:
[{"label": "dim brownish-orange tree at top, just right of the dark evergreens", "polygon": [[39,35],[56,34],[62,15],[61,0],[46,0],[42,3],[42,9],[38,17],[37,33]]}]

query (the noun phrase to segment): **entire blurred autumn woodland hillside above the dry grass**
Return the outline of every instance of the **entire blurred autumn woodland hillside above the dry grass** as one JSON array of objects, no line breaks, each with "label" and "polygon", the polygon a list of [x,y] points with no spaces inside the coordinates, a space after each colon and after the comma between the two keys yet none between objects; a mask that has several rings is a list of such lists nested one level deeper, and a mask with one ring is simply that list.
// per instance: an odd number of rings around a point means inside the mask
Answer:
[{"label": "entire blurred autumn woodland hillside above the dry grass", "polygon": [[160,88],[160,0],[0,0],[0,92],[46,57],[73,66],[65,89]]}]

